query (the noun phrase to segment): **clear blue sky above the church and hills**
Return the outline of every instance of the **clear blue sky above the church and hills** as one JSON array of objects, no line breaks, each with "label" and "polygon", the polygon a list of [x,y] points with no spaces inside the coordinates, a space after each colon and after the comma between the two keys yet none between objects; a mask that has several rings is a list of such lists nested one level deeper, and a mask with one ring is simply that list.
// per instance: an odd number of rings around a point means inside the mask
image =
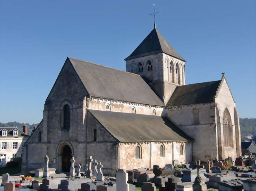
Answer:
[{"label": "clear blue sky above the church and hills", "polygon": [[256,118],[255,0],[0,1],[0,122],[37,123],[67,56],[125,70],[157,28],[187,60],[186,83],[226,78],[240,117]]}]

